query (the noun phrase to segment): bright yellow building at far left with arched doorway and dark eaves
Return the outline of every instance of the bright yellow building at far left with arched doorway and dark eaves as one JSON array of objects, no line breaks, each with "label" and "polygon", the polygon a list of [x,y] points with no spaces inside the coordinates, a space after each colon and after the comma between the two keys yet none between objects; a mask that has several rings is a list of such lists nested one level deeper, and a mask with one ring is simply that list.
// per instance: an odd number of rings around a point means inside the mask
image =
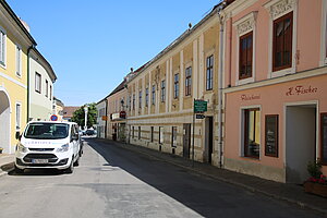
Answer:
[{"label": "bright yellow building at far left with arched doorway and dark eaves", "polygon": [[36,46],[10,7],[0,3],[0,148],[14,153],[27,121],[27,53]]}]

